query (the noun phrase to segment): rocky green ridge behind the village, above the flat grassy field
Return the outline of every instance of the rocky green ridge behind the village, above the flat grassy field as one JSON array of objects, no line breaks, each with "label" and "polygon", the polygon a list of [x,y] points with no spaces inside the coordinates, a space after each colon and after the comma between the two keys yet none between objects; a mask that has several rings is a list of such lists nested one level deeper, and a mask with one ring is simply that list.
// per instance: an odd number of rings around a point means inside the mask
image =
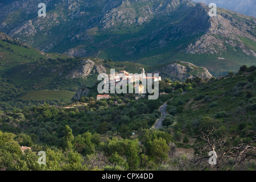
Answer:
[{"label": "rocky green ridge behind the village, above the flat grassy field", "polygon": [[[23,55],[25,53],[25,55]],[[96,57],[72,58],[52,55],[14,40],[0,33],[0,81],[6,79],[23,90],[71,90],[77,91],[81,86],[92,86],[100,73],[126,70],[140,73],[159,73],[172,80],[185,80],[186,77],[211,77],[205,68],[191,63],[178,61],[174,64],[147,66],[129,62],[114,62]]]}]

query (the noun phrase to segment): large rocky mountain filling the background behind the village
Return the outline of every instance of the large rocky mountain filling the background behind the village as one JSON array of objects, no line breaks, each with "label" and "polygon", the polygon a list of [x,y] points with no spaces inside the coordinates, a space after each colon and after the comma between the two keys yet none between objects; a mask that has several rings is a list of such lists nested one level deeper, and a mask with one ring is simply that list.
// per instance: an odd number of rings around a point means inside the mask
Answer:
[{"label": "large rocky mountain filling the background behind the village", "polygon": [[[213,76],[256,60],[256,19],[189,0],[40,1],[0,4],[0,31],[43,52],[143,65],[188,61]],[[222,57],[224,59],[219,59]]]}]

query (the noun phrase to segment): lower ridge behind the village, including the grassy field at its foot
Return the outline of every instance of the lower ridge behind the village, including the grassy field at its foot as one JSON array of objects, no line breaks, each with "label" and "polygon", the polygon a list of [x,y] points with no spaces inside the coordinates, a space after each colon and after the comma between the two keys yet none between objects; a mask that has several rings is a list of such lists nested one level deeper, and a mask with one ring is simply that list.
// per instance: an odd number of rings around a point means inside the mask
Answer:
[{"label": "lower ridge behind the village, including the grassy field at its foot", "polygon": [[173,81],[211,76],[207,69],[184,61],[147,66],[97,57],[79,58],[44,53],[0,32],[0,109],[71,101],[76,92],[77,98],[87,93],[81,88],[95,85],[98,74],[109,74],[110,68],[117,72],[126,70],[140,73],[142,67],[146,73],[159,73],[163,78]]}]

